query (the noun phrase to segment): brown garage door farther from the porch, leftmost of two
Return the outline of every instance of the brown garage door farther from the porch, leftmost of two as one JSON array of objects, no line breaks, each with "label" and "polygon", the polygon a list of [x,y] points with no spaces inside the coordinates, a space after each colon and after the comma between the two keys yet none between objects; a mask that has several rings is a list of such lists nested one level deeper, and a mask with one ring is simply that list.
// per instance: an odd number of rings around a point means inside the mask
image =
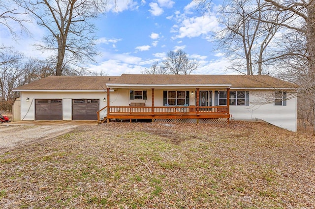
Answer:
[{"label": "brown garage door farther from the porch, leftmost of two", "polygon": [[63,120],[63,100],[35,100],[35,120]]}]

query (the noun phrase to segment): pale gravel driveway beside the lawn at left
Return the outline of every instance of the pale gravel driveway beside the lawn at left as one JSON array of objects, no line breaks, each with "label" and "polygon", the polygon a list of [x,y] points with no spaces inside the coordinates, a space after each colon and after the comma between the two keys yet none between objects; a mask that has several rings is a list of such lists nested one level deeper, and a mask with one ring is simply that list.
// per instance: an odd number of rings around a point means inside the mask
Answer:
[{"label": "pale gravel driveway beside the lawn at left", "polygon": [[39,140],[51,139],[69,131],[73,131],[76,125],[59,126],[0,126],[0,152],[6,152]]}]

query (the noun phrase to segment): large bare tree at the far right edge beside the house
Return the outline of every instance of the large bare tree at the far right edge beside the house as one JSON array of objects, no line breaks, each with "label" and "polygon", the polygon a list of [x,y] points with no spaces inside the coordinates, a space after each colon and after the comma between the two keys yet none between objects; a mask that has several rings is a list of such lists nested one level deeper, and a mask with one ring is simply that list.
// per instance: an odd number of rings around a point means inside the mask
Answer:
[{"label": "large bare tree at the far right edge beside the house", "polygon": [[281,78],[303,89],[298,94],[298,117],[311,121],[315,136],[315,0],[265,1],[270,10],[280,15],[277,23],[262,21],[285,29],[278,42],[275,63],[283,68]]}]

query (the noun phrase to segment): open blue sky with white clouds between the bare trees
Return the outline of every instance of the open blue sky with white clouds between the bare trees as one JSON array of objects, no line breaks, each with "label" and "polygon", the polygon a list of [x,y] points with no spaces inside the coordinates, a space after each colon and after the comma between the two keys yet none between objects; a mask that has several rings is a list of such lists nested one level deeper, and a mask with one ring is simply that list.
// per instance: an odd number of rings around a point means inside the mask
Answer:
[{"label": "open blue sky with white clouds between the bare trees", "polygon": [[[140,74],[155,61],[161,62],[167,52],[182,49],[199,60],[193,74],[231,74],[225,72],[227,59],[214,52],[211,35],[220,29],[216,18],[215,13],[201,14],[191,0],[117,0],[116,6],[110,2],[106,14],[95,20],[96,49],[101,56],[85,67],[110,76]],[[0,42],[26,55],[45,58],[48,54],[32,46],[41,40],[44,28],[34,23],[28,26],[32,36],[17,42],[0,28]]]}]

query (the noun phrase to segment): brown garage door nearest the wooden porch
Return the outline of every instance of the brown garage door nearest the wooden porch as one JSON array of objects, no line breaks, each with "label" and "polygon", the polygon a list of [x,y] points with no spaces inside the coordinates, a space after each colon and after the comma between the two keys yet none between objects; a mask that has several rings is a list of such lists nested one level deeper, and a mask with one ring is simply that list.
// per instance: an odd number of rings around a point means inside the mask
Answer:
[{"label": "brown garage door nearest the wooden porch", "polygon": [[97,120],[99,100],[76,99],[72,100],[72,120]]}]

